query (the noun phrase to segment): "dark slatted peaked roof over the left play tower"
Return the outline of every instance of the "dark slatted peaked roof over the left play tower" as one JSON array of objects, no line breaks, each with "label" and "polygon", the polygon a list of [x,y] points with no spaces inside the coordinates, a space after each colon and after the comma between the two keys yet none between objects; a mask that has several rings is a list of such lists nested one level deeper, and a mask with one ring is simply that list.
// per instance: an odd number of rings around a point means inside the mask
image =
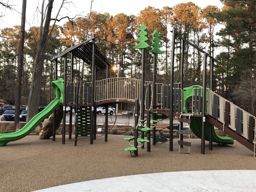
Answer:
[{"label": "dark slatted peaked roof over the left play tower", "polygon": [[[87,64],[92,65],[92,45],[95,44],[93,40],[96,37],[97,36],[66,49],[64,52],[62,52],[60,55],[55,57],[53,60],[63,57],[68,53],[73,53],[75,57],[81,60],[84,60]],[[102,55],[102,53],[100,52],[96,44],[95,44],[95,65],[100,70],[106,69],[107,66],[111,67],[110,63]]]}]

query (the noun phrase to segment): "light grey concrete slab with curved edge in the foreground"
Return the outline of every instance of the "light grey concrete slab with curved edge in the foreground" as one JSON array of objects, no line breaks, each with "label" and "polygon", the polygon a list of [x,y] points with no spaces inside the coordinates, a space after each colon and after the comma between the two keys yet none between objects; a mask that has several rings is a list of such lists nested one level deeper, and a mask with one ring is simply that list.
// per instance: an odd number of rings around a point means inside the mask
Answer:
[{"label": "light grey concrete slab with curved edge in the foreground", "polygon": [[256,170],[178,171],[89,180],[35,192],[255,192]]}]

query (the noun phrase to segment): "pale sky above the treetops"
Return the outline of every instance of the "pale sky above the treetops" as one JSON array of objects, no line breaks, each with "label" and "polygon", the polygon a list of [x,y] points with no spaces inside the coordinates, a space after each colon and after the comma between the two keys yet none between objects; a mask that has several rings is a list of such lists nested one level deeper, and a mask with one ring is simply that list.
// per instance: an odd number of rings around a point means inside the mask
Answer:
[{"label": "pale sky above the treetops", "polygon": [[[21,24],[21,6],[22,0],[1,0],[4,3],[8,2],[9,5],[16,10],[9,11],[4,10],[0,7],[0,13],[4,14],[4,17],[0,18],[0,28],[12,27],[14,25]],[[38,2],[39,1],[39,2]],[[46,2],[48,0],[45,0]],[[52,17],[56,15],[60,7],[62,0],[54,0]],[[65,4],[60,12],[60,17],[69,15],[71,18],[75,15],[86,15],[90,12],[91,0],[67,0],[71,3]],[[173,7],[179,3],[192,1],[201,8],[207,5],[216,5],[219,8],[222,4],[219,0],[93,0],[92,11],[105,13],[108,12],[110,15],[116,15],[118,13],[124,13],[126,15],[138,15],[141,10],[151,6],[154,8],[162,9],[165,6]],[[42,0],[27,0],[27,11],[26,11],[26,28],[30,26],[37,26],[39,24],[40,14],[37,11],[37,7],[41,9]],[[59,17],[59,18],[60,18]],[[63,23],[68,20],[63,20]]]}]

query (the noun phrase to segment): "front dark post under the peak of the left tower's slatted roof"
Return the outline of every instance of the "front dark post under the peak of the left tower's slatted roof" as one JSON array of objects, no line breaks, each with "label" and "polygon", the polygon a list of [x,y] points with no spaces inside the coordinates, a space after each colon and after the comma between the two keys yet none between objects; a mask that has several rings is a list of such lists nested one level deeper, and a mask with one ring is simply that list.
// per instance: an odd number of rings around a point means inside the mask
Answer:
[{"label": "front dark post under the peak of the left tower's slatted roof", "polygon": [[[93,35],[94,37],[95,35]],[[91,125],[90,125],[90,144],[93,144],[93,131],[94,131],[94,108],[95,108],[95,44],[92,44],[92,91],[91,91],[91,105],[92,105],[92,112],[91,112]]]}]

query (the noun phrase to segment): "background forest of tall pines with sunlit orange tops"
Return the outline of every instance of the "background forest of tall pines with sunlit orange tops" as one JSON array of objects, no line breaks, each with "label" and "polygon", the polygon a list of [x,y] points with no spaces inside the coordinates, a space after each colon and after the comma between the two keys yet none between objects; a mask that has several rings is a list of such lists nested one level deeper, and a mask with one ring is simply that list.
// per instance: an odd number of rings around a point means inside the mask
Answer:
[{"label": "background forest of tall pines with sunlit orange tops", "polygon": [[[46,45],[43,75],[41,79],[40,105],[53,99],[50,82],[54,79],[52,59],[93,34],[101,52],[112,65],[119,68],[119,77],[140,78],[141,53],[134,49],[138,28],[147,26],[148,44],[152,42],[155,29],[161,35],[161,50],[158,55],[157,82],[169,84],[171,63],[171,28],[179,35],[205,50],[215,61],[215,91],[236,105],[256,115],[256,1],[221,0],[223,8],[215,6],[201,8],[195,3],[180,3],[159,10],[147,7],[138,15],[123,13],[89,12],[84,17],[70,19],[63,25],[50,25],[50,36]],[[0,29],[0,99],[15,105],[15,90],[18,73],[18,47],[21,26]],[[24,65],[22,68],[21,104],[26,105],[31,79],[40,43],[40,27],[31,26],[24,33]],[[180,42],[175,48],[175,81],[179,82]],[[203,55],[185,45],[184,86],[202,84]],[[146,52],[146,81],[152,77],[153,57]],[[64,60],[59,60],[59,76],[63,74]],[[117,72],[110,72],[117,76]],[[74,61],[75,82],[83,79],[90,82],[90,67],[81,60]],[[68,74],[70,74],[68,72]],[[104,75],[98,79],[105,78]]]}]

